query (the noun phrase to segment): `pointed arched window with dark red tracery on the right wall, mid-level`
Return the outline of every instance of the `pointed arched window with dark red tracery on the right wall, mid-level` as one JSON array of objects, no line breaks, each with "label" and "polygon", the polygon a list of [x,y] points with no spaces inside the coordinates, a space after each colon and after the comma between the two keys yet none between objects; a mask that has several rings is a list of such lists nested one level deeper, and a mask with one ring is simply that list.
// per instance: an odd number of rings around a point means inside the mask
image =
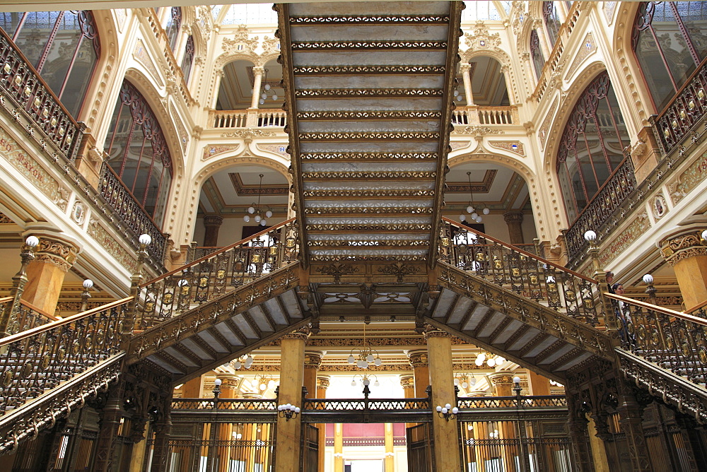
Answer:
[{"label": "pointed arched window with dark red tracery on the right wall, mid-level", "polygon": [[572,223],[624,160],[629,134],[606,72],[577,100],[557,154],[567,216]]}]

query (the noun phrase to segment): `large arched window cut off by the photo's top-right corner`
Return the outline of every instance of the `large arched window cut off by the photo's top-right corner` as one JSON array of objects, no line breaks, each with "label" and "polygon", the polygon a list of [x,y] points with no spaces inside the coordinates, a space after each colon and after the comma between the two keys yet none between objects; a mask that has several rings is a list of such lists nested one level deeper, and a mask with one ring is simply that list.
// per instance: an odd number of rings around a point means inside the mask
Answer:
[{"label": "large arched window cut off by the photo's top-right corner", "polygon": [[705,31],[706,2],[647,1],[638,7],[631,41],[658,112],[705,59]]}]

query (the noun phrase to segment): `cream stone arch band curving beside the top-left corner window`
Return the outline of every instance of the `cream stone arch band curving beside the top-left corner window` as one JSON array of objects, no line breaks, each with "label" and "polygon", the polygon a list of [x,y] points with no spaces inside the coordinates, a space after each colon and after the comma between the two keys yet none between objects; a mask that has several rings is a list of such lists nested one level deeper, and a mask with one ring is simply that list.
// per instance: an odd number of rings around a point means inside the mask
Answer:
[{"label": "cream stone arch band curving beside the top-left corner window", "polygon": [[[98,123],[107,122],[101,119],[106,113],[111,113],[110,100],[105,100],[108,84],[115,80],[115,64],[117,64],[118,51],[118,25],[111,10],[92,10],[95,26],[100,38],[100,57],[96,64],[93,78],[88,88],[89,94],[83,102],[78,121],[83,121],[95,136],[94,128]],[[115,105],[115,104],[113,104]],[[110,109],[110,110],[109,110]]]}]

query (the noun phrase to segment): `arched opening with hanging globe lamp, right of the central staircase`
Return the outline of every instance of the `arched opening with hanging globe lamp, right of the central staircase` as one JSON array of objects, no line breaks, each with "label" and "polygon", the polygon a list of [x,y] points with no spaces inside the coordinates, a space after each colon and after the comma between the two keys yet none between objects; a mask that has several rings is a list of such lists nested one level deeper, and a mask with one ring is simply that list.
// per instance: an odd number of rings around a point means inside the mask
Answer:
[{"label": "arched opening with hanging globe lamp, right of the central staircase", "polygon": [[537,233],[530,194],[525,179],[513,169],[490,162],[452,165],[445,203],[448,218],[498,240],[533,247]]}]

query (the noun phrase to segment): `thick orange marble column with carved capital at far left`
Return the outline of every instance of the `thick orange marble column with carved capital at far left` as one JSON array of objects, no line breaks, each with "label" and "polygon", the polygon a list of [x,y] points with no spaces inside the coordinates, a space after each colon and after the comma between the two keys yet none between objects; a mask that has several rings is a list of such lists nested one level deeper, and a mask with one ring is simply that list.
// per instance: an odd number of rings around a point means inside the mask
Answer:
[{"label": "thick orange marble column with carved capital at far left", "polygon": [[38,235],[35,259],[27,266],[28,283],[22,299],[48,314],[57,311],[66,273],[76,262],[79,249],[73,242],[54,235]]}]

